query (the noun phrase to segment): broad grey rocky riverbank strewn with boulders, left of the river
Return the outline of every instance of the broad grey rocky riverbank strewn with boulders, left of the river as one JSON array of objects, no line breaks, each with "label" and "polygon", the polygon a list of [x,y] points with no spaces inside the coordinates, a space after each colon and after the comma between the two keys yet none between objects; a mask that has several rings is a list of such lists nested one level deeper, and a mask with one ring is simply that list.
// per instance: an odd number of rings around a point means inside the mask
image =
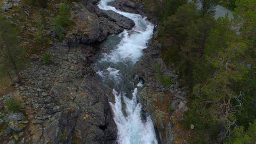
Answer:
[{"label": "broad grey rocky riverbank strewn with boulders, left of the river", "polygon": [[[32,55],[30,68],[20,73],[23,86],[16,84],[16,92],[0,98],[2,144],[115,144],[116,124],[108,97],[90,65],[100,51],[96,42],[131,29],[134,22],[96,4],[74,3],[76,25],[63,42],[58,42],[52,28],[46,28],[46,34],[54,37],[47,51],[50,64],[44,65],[44,52]],[[8,11],[6,6],[2,12]],[[29,14],[29,6],[24,7]],[[22,112],[10,113],[6,102],[11,98],[20,100]]]}]

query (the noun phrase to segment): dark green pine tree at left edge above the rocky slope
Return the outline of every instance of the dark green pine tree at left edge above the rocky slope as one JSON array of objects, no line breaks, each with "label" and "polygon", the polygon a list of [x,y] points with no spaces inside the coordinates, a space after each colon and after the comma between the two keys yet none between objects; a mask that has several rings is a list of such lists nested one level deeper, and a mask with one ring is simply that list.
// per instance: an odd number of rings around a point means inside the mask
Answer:
[{"label": "dark green pine tree at left edge above the rocky slope", "polygon": [[[8,74],[13,71],[18,77],[20,85],[22,79],[19,72],[28,66],[28,60],[24,58],[26,50],[18,46],[18,36],[10,25],[10,22],[4,20],[0,16],[0,53],[1,53],[1,75]],[[11,80],[12,77],[10,76]]]}]

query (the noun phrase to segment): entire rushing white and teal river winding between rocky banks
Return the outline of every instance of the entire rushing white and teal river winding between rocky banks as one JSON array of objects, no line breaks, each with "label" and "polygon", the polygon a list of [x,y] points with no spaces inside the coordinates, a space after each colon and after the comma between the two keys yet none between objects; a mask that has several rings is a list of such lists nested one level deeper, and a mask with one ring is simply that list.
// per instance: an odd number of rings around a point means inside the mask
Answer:
[{"label": "entire rushing white and teal river winding between rocky banks", "polygon": [[[112,0],[101,0],[99,8],[113,10],[135,22],[132,30],[124,30],[118,35],[108,36],[103,42],[110,51],[102,54],[96,77],[106,88],[111,89],[115,102],[111,103],[114,120],[118,128],[118,144],[157,144],[154,126],[150,116],[142,120],[142,105],[138,103],[137,88],[142,86],[132,67],[143,56],[142,49],[153,34],[150,22],[138,14],[120,12],[108,6]],[[137,80],[137,82],[136,82]],[[130,98],[128,98],[130,97]]]}]

